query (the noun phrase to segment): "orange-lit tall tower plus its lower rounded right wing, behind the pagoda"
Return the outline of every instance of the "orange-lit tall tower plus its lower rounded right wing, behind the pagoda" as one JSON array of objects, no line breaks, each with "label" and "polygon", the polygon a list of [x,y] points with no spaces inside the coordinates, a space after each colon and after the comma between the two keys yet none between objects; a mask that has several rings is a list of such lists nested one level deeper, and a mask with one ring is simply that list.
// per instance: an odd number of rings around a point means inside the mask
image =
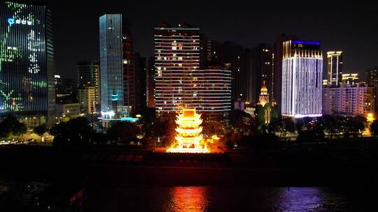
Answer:
[{"label": "orange-lit tall tower plus its lower rounded right wing, behind the pagoda", "polygon": [[195,108],[216,115],[231,109],[232,73],[200,69],[200,29],[188,25],[155,28],[155,104],[158,115]]}]

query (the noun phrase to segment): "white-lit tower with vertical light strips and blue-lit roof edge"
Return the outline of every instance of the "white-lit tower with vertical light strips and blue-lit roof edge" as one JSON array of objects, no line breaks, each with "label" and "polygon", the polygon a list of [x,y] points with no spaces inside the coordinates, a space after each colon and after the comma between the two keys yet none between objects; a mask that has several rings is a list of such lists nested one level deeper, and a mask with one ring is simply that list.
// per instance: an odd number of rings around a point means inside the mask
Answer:
[{"label": "white-lit tower with vertical light strips and blue-lit roof edge", "polygon": [[282,116],[321,116],[323,57],[320,43],[283,42]]}]

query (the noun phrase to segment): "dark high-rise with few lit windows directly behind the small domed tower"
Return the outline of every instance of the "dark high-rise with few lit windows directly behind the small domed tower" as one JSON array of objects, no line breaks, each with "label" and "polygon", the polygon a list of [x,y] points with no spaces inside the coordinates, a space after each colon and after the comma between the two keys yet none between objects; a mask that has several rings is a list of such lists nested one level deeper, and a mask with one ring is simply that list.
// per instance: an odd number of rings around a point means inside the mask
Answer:
[{"label": "dark high-rise with few lit windows directly behind the small domed tower", "polygon": [[272,91],[273,51],[272,47],[260,44],[253,48],[253,102],[258,100],[259,89],[263,84]]}]

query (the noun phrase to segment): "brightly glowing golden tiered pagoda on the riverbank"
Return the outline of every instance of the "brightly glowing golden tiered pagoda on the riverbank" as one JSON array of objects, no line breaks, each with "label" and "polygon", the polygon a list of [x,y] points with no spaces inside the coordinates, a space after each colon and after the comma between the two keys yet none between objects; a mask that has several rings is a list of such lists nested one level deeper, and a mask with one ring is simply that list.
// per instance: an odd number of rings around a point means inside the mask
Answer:
[{"label": "brightly glowing golden tiered pagoda on the riverbank", "polygon": [[177,115],[176,142],[167,152],[176,153],[209,153],[206,144],[202,142],[201,114],[195,109],[183,109]]}]

